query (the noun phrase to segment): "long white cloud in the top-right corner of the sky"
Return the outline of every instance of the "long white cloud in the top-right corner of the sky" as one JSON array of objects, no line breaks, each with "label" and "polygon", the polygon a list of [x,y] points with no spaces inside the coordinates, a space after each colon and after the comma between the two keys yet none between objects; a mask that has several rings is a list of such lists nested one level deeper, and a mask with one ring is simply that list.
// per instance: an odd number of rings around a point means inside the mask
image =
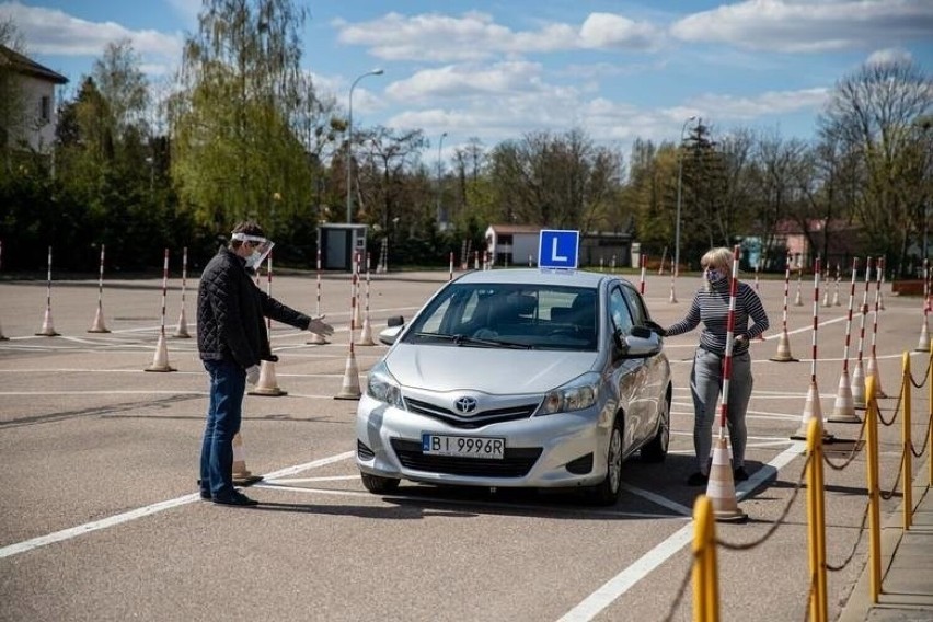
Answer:
[{"label": "long white cloud in the top-right corner of the sky", "polygon": [[891,39],[928,38],[933,32],[933,2],[747,0],[684,18],[670,32],[687,42],[727,43],[756,50],[862,48]]}]

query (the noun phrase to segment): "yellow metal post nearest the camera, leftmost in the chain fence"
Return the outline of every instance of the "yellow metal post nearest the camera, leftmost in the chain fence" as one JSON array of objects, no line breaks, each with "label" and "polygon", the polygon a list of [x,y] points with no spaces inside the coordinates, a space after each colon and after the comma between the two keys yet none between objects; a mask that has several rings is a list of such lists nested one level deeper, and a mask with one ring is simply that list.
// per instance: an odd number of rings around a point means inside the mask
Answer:
[{"label": "yellow metal post nearest the camera, leftmost in the chain fence", "polygon": [[718,622],[716,521],[713,502],[706,495],[700,495],[693,503],[693,620]]}]

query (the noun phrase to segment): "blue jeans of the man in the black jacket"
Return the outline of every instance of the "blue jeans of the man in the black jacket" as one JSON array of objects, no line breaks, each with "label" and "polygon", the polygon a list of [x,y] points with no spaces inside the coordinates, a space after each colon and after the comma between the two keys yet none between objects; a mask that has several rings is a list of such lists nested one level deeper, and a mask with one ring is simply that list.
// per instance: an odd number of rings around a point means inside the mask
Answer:
[{"label": "blue jeans of the man in the black jacket", "polygon": [[205,360],[210,404],[200,447],[200,489],[212,498],[233,494],[233,435],[243,418],[246,372],[231,360]]}]

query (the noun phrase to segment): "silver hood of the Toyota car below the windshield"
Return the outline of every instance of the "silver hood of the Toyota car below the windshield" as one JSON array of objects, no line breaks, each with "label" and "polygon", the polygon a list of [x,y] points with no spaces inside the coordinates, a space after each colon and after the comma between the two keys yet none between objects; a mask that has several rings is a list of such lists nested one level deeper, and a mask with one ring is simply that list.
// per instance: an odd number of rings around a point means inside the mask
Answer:
[{"label": "silver hood of the Toyota car below the windshield", "polygon": [[589,371],[595,352],[398,344],[385,359],[403,387],[492,394],[543,393]]}]

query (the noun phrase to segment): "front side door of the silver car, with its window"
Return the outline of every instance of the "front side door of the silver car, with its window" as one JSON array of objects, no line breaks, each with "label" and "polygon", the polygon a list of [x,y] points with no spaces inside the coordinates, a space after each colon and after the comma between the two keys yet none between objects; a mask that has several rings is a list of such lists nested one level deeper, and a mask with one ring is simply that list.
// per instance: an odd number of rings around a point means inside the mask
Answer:
[{"label": "front side door of the silver car, with its window", "polygon": [[[610,338],[617,331],[627,335],[635,325],[629,302],[622,291],[621,284],[613,284],[609,290],[609,332]],[[625,413],[624,427],[624,451],[627,454],[643,442],[645,437],[645,400],[642,395],[642,383],[644,382],[644,360],[629,359],[619,356],[613,347],[610,366],[612,368],[612,380],[619,396],[619,405]]]}]

